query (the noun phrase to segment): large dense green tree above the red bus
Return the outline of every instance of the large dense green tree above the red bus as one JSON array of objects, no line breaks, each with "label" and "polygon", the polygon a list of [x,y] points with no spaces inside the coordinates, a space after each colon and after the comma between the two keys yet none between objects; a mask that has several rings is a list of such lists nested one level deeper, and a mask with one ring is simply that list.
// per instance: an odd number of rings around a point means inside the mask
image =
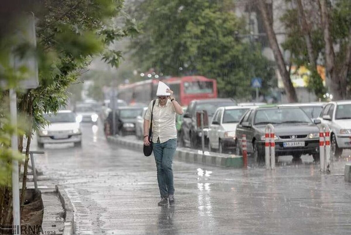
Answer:
[{"label": "large dense green tree above the red bus", "polygon": [[267,90],[272,66],[256,43],[236,39],[245,33],[245,22],[231,8],[225,0],[142,2],[135,17],[143,34],[132,42],[134,60],[165,75],[215,78],[220,96],[250,99],[252,77],[262,77]]}]

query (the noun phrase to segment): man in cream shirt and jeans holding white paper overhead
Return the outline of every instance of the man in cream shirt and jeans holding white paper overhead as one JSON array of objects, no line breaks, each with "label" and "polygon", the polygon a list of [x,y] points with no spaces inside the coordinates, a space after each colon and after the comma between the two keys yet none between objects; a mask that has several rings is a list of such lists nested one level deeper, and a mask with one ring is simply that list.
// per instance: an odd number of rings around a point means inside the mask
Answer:
[{"label": "man in cream shirt and jeans holding white paper overhead", "polygon": [[157,88],[157,100],[153,107],[152,140],[148,140],[151,110],[150,102],[144,117],[144,144],[152,144],[157,168],[157,182],[161,201],[158,205],[174,204],[172,161],[177,147],[176,113],[183,114],[183,108],[173,97],[173,91],[163,82]]}]

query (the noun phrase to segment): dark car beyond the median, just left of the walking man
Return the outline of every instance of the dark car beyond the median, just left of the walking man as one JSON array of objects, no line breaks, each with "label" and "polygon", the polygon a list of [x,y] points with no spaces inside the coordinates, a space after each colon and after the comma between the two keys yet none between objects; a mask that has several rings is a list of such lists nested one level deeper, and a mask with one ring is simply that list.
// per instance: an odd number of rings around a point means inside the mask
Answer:
[{"label": "dark car beyond the median, just left of the walking man", "polygon": [[[135,120],[137,116],[141,115],[144,107],[120,107],[116,109],[115,115],[115,134],[119,135],[135,135]],[[113,113],[112,111],[108,113],[105,120],[105,135],[112,135],[113,123],[112,123]]]}]

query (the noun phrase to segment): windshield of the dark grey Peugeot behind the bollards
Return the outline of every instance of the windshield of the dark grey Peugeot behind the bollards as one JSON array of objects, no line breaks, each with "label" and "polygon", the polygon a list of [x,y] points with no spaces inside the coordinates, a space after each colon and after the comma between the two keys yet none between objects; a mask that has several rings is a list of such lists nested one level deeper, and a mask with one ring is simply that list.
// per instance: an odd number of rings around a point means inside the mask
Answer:
[{"label": "windshield of the dark grey Peugeot behind the bollards", "polygon": [[311,123],[311,119],[300,108],[275,108],[257,110],[255,125],[268,123]]}]

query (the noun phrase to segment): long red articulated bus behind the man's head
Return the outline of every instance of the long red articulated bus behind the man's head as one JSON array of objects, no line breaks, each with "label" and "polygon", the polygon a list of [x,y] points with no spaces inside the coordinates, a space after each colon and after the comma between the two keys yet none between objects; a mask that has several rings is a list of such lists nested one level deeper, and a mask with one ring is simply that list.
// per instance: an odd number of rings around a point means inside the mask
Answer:
[{"label": "long red articulated bus behind the man's head", "polygon": [[203,76],[171,77],[163,80],[150,79],[118,87],[118,99],[127,103],[145,103],[156,97],[158,82],[166,83],[174,92],[181,106],[192,100],[217,98],[217,82]]}]

